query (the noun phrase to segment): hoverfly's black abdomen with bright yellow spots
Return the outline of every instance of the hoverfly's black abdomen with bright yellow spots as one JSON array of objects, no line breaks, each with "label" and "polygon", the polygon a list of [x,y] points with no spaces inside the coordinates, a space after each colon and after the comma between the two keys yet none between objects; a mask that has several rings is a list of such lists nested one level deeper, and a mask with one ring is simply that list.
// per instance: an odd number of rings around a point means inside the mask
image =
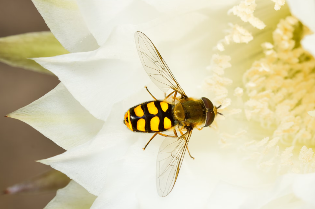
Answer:
[{"label": "hoverfly's black abdomen with bright yellow spots", "polygon": [[133,131],[160,132],[175,125],[172,105],[163,101],[145,102],[130,108],[129,111]]}]

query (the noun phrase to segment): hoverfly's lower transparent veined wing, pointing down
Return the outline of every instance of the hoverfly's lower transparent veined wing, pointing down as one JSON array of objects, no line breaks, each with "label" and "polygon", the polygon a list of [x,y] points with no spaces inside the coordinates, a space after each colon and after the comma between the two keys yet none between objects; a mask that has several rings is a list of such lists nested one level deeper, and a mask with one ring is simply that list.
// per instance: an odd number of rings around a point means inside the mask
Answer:
[{"label": "hoverfly's lower transparent veined wing, pointing down", "polygon": [[157,155],[157,193],[168,195],[176,182],[192,129],[179,138],[166,137]]}]

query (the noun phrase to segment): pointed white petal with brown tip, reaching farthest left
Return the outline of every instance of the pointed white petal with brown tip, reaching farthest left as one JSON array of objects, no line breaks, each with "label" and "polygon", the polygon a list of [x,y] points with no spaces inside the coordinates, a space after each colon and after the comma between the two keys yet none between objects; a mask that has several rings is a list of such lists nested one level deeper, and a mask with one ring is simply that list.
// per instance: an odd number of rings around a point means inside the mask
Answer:
[{"label": "pointed white petal with brown tip, reaching farthest left", "polygon": [[62,83],[8,117],[31,125],[66,150],[92,139],[104,124],[84,109]]}]

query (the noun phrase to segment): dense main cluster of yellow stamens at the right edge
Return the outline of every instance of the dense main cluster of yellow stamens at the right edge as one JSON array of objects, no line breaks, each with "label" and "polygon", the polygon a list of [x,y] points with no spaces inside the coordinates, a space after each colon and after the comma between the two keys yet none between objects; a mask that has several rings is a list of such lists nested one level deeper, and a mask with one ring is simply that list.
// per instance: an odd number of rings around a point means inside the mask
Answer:
[{"label": "dense main cluster of yellow stamens at the right edge", "polygon": [[262,44],[264,58],[243,75],[246,118],[272,131],[270,139],[245,145],[261,169],[315,171],[315,117],[308,114],[315,109],[315,59],[300,45],[307,33],[295,17],[280,20],[273,44]]}]

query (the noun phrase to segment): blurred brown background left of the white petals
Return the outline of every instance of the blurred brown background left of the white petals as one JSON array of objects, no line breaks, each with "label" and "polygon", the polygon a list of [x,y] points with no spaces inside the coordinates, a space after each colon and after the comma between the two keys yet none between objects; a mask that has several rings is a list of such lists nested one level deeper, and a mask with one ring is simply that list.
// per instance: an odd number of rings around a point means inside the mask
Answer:
[{"label": "blurred brown background left of the white petals", "polygon": [[[49,30],[31,0],[0,1],[0,37]],[[3,118],[53,89],[57,77],[0,63],[0,191],[50,167],[35,160],[64,152],[31,126]],[[2,195],[1,209],[42,209],[55,193]]]}]

